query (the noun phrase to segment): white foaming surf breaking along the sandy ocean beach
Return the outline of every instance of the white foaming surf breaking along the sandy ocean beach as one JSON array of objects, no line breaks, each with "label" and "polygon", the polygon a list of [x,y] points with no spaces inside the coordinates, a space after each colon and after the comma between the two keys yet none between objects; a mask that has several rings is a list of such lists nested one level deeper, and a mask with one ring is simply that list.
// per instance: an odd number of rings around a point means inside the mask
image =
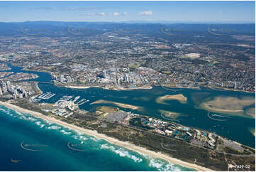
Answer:
[{"label": "white foaming surf breaking along the sandy ocean beach", "polygon": [[95,141],[97,144],[90,144],[90,145],[94,145],[94,146],[91,146],[91,149],[95,149],[97,147],[96,149],[105,149],[108,151],[112,151],[114,154],[118,154],[118,156],[120,157],[130,158],[135,163],[141,163],[141,162],[147,163],[147,166],[150,166],[151,168],[156,168],[157,171],[182,171],[182,167],[169,163],[162,159],[152,158],[147,154],[143,154],[137,151],[133,152],[119,146],[112,146],[112,144],[109,144],[106,142],[102,144],[102,139],[96,139],[96,137],[94,136],[87,136],[86,134],[83,134],[80,131],[68,129],[58,124],[53,124],[52,122],[49,122],[48,120],[45,120],[45,119],[34,118],[30,114],[25,114],[25,113],[23,114],[21,112],[17,112],[12,109],[1,107],[1,106],[0,106],[0,112],[9,114],[12,117],[17,117],[16,114],[19,114],[21,119],[33,122],[40,128],[44,127],[44,129],[60,131],[61,134],[68,135],[70,138],[80,141],[80,144],[85,144],[86,141],[89,141],[89,142]]}]

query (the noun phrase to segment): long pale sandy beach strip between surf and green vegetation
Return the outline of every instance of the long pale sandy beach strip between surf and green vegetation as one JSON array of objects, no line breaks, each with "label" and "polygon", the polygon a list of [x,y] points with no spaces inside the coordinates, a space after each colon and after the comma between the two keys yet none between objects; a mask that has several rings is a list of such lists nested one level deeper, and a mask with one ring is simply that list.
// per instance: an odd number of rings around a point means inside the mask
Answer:
[{"label": "long pale sandy beach strip between surf and green vegetation", "polygon": [[80,131],[80,132],[82,132],[84,134],[87,134],[87,135],[96,136],[96,138],[98,138],[98,139],[104,139],[104,140],[108,141],[111,144],[116,144],[118,146],[122,146],[126,149],[130,149],[132,151],[140,152],[142,154],[147,154],[149,156],[152,156],[153,158],[162,158],[165,161],[168,161],[169,163],[178,164],[180,166],[185,166],[187,168],[193,168],[193,169],[198,170],[198,171],[213,171],[209,168],[199,166],[199,165],[196,165],[194,163],[188,163],[188,162],[179,160],[177,158],[169,157],[169,156],[167,156],[165,154],[162,154],[162,153],[159,153],[159,152],[150,151],[148,149],[145,149],[145,148],[142,148],[142,147],[139,147],[139,146],[135,146],[134,144],[130,144],[128,142],[119,141],[118,139],[114,139],[113,137],[106,136],[105,134],[99,134],[95,130],[89,130],[89,129],[84,129],[84,128],[81,128],[81,127],[77,127],[73,124],[68,124],[68,123],[62,122],[58,119],[45,116],[45,115],[43,115],[39,112],[34,112],[34,111],[31,111],[31,110],[28,110],[28,109],[23,109],[22,107],[18,107],[18,106],[14,105],[14,104],[11,104],[9,102],[1,102],[0,101],[0,105],[3,105],[5,107],[9,107],[9,108],[17,110],[19,112],[31,114],[34,117],[38,117],[40,119],[47,120],[47,121],[53,122],[55,124],[59,124],[63,127],[67,127],[69,129],[72,129],[72,130]]}]

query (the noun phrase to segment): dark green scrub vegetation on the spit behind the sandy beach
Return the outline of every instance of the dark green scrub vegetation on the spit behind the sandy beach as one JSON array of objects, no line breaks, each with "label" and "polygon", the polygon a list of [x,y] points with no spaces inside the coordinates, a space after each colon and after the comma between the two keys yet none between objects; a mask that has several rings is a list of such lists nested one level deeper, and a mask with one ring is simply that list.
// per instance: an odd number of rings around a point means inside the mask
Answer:
[{"label": "dark green scrub vegetation on the spit behind the sandy beach", "polygon": [[[79,117],[77,118],[79,119]],[[149,132],[147,128],[143,127],[140,119],[133,119],[131,121],[134,127],[108,122],[104,122],[106,123],[105,127],[99,127],[100,125],[94,125],[96,122],[95,119],[85,119],[85,121],[82,127],[94,127],[94,129],[102,134],[106,134],[106,136],[111,136],[121,141],[129,141],[132,144],[145,147],[155,152],[160,151],[167,156],[178,158],[189,163],[194,163],[196,159],[196,164],[199,166],[207,166],[216,171],[228,171],[228,162],[223,153],[192,146],[186,141],[179,141],[178,139],[170,139],[165,136],[160,136],[159,134],[153,134]],[[165,146],[162,146],[163,144]],[[174,151],[169,151],[170,149],[174,149]],[[231,151],[228,151],[228,153],[231,153]],[[232,153],[237,154],[238,152],[233,151]],[[239,162],[237,156],[229,156],[229,158],[234,162]],[[228,161],[230,161],[229,158]],[[244,157],[243,162],[252,164],[255,160],[253,156],[247,156]],[[251,167],[255,168],[254,166]]]}]

